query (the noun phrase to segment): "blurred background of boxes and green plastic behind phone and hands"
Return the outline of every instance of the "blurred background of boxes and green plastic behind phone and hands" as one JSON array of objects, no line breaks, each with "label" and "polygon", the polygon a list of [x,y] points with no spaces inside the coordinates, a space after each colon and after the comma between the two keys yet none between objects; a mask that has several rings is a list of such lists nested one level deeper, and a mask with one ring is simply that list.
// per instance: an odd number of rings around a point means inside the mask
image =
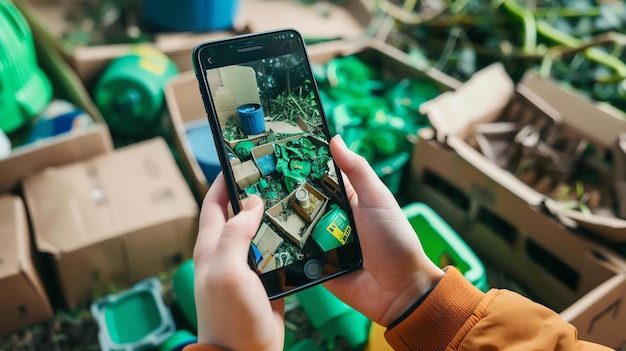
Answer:
[{"label": "blurred background of boxes and green plastic behind phone and hands", "polygon": [[[626,349],[622,1],[0,0],[0,350],[195,341],[220,165],[191,52],[287,27],[433,261]],[[390,349],[321,286],[286,302],[285,350]]]}]

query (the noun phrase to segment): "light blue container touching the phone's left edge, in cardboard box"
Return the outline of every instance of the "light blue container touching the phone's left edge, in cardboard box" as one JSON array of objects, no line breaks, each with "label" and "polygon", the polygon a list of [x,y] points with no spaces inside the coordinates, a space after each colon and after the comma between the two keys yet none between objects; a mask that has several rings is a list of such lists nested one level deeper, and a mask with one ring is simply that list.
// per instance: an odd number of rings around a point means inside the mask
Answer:
[{"label": "light blue container touching the phone's left edge, in cardboard box", "polygon": [[189,146],[191,146],[196,161],[198,161],[202,169],[202,173],[204,173],[209,183],[213,183],[222,167],[220,166],[220,159],[217,156],[211,127],[206,124],[188,129],[187,140],[189,141]]}]

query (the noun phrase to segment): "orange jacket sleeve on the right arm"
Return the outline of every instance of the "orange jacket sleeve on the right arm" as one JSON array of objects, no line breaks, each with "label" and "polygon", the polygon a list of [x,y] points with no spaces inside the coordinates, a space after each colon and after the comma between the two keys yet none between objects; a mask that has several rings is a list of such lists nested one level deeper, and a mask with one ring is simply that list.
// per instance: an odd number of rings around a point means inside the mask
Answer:
[{"label": "orange jacket sleeve on the right arm", "polygon": [[611,350],[579,341],[574,326],[520,294],[481,292],[454,267],[385,338],[398,351]]}]

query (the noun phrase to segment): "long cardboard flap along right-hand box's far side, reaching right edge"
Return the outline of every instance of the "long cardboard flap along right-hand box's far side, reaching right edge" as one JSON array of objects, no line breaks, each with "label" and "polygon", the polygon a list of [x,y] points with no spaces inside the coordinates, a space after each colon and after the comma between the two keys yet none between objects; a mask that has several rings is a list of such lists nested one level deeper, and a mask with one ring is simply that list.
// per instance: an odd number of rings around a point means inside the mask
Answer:
[{"label": "long cardboard flap along right-hand box's far side, reaching right edge", "polygon": [[626,132],[626,114],[623,112],[575,95],[534,71],[526,72],[519,85],[541,96],[567,120],[568,128],[589,138],[595,145],[609,148],[620,133]]}]

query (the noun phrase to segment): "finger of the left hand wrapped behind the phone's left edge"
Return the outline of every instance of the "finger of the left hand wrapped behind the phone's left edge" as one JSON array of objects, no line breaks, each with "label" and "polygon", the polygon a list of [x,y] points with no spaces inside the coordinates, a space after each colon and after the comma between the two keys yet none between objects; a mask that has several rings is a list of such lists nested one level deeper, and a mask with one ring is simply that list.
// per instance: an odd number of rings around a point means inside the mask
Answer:
[{"label": "finger of the left hand wrapped behind the phone's left edge", "polygon": [[228,192],[226,191],[224,177],[220,173],[202,202],[198,237],[196,238],[193,252],[196,262],[210,256],[215,251],[226,224],[227,212],[225,204],[228,204]]}]

